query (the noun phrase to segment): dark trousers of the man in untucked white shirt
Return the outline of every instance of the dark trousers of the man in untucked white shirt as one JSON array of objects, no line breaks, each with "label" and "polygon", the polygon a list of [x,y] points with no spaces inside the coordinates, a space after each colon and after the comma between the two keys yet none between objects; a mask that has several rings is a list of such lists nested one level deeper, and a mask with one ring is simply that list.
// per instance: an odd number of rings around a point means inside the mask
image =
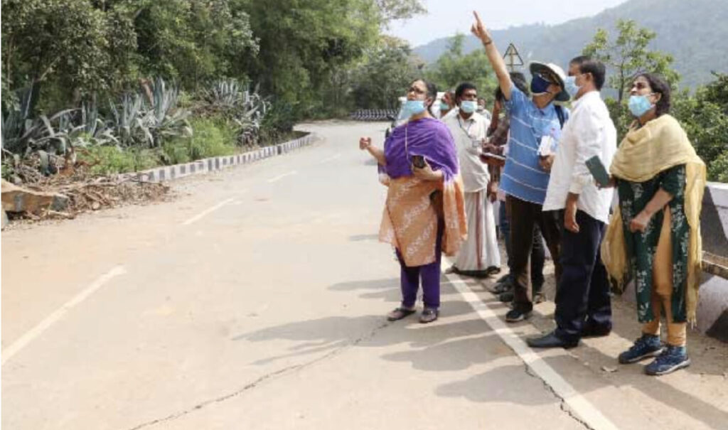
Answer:
[{"label": "dark trousers of the man in untucked white shirt", "polygon": [[[561,212],[563,217],[563,212]],[[556,288],[556,335],[579,341],[585,322],[612,328],[609,280],[601,262],[605,226],[586,212],[577,211],[579,233],[561,232],[561,279]]]}]

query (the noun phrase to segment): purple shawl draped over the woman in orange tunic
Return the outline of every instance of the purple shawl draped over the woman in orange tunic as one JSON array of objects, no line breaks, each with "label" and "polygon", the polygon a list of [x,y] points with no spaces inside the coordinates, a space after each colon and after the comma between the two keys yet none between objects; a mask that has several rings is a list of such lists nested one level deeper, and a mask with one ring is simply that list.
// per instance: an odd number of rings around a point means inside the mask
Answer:
[{"label": "purple shawl draped over the woman in orange tunic", "polygon": [[432,170],[441,170],[445,174],[445,182],[459,173],[455,142],[448,127],[438,119],[423,118],[395,128],[384,141],[387,166],[379,166],[379,172],[387,173],[392,179],[411,176],[414,155],[424,156]]}]

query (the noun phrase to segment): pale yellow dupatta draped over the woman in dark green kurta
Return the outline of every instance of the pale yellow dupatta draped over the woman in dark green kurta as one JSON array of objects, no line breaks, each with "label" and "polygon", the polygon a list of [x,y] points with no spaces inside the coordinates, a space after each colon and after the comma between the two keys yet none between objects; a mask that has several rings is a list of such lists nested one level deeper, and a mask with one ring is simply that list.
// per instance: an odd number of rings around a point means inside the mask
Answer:
[{"label": "pale yellow dupatta draped over the woman in dark green kurta", "polygon": [[[695,322],[697,290],[700,287],[703,244],[700,237],[700,210],[705,191],[705,163],[695,154],[695,148],[675,118],[662,115],[630,129],[614,155],[609,172],[616,178],[630,182],[644,182],[670,167],[685,164],[685,215],[690,227],[688,274],[686,287],[687,320]],[[627,252],[619,207],[612,215],[609,228],[601,245],[604,266],[622,285],[627,270]]]}]

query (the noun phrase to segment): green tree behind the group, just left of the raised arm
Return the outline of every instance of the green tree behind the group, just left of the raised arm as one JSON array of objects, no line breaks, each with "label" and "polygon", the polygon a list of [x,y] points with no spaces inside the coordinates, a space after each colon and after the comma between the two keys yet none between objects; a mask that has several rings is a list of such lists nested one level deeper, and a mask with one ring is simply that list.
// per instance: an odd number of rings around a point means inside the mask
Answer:
[{"label": "green tree behind the group, just left of the raised arm", "polygon": [[462,82],[470,82],[478,87],[478,93],[487,95],[496,87],[491,77],[488,57],[483,49],[463,55],[464,35],[456,34],[448,43],[448,50],[438,58],[435,65],[427,70],[427,78],[435,82],[439,89],[454,89]]}]

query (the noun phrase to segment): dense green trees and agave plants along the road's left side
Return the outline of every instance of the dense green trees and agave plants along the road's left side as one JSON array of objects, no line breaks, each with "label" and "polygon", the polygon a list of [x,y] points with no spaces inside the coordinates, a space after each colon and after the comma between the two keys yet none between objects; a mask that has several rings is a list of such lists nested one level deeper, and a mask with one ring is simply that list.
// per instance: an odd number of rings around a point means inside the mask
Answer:
[{"label": "dense green trees and agave plants along the road's left side", "polygon": [[[381,76],[362,71],[392,45],[381,36],[389,21],[424,9],[419,0],[2,0],[2,11],[5,165],[39,151],[117,162],[133,153],[122,170],[139,154],[175,162],[221,151],[199,150],[196,132],[229,138],[234,151],[285,138],[301,118],[346,112],[365,88],[381,92],[372,85]],[[395,66],[409,64],[408,47],[393,45],[405,52]],[[390,80],[400,93],[402,73]]]}]

